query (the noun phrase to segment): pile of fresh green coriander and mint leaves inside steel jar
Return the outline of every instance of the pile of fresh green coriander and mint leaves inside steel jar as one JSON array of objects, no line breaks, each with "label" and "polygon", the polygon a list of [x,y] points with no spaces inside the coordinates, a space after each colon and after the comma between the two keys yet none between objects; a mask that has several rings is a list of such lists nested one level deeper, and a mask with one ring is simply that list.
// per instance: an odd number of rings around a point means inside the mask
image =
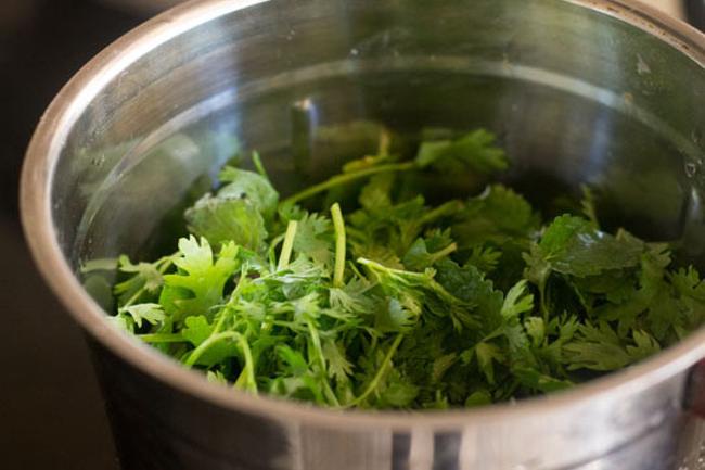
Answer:
[{"label": "pile of fresh green coriander and mint leaves inside steel jar", "polygon": [[256,173],[225,167],[175,254],[119,258],[111,320],[252,394],[395,409],[561,390],[705,321],[698,272],[667,244],[602,231],[590,191],[550,220],[498,183],[436,206],[419,193],[422,177],[507,169],[493,142],[479,129],[409,160],[383,136],[284,200],[257,154]]}]

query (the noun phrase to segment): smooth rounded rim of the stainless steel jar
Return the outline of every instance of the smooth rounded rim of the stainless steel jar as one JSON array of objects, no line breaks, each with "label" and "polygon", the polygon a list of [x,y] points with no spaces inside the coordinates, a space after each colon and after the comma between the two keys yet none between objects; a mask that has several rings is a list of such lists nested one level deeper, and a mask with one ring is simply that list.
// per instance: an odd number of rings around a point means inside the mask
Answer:
[{"label": "smooth rounded rim of the stainless steel jar", "polygon": [[[169,39],[219,16],[270,0],[192,0],[129,31],[88,62],[52,101],[29,143],[21,180],[21,216],[25,239],[41,275],[74,319],[100,344],[138,370],[218,406],[277,420],[298,420],[338,429],[452,429],[495,422],[510,416],[539,416],[611,394],[631,396],[687,370],[705,357],[705,328],[679,344],[627,370],[572,390],[516,403],[475,409],[423,412],[337,411],[274,397],[255,397],[187,370],[172,359],[119,332],[82,289],[64,258],[52,224],[51,188],[55,165],[68,131],[86,106],[121,71]],[[705,67],[705,36],[653,8],[629,0],[560,0],[630,23],[668,42]]]}]

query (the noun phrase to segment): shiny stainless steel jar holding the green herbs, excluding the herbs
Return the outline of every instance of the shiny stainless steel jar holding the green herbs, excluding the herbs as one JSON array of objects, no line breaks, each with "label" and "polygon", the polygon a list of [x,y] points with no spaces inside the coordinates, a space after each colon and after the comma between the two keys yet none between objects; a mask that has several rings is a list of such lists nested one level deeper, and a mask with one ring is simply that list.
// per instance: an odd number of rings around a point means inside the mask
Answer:
[{"label": "shiny stainless steel jar holding the green herbs, excluding the herbs", "polygon": [[22,209],[39,267],[91,338],[125,468],[693,468],[704,330],[544,398],[336,412],[208,384],[112,329],[100,287],[95,302],[75,271],[158,250],[153,233],[238,145],[294,190],[366,144],[325,137],[360,119],[409,135],[487,126],[537,203],[589,182],[608,221],[682,236],[702,263],[704,65],[700,34],[616,0],[205,0],[111,46],[42,119]]}]

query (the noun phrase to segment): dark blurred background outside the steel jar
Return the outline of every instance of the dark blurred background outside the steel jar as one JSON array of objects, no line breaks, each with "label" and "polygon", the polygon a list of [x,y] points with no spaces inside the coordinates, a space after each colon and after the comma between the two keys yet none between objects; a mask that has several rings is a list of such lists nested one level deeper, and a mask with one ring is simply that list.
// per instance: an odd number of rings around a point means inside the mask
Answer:
[{"label": "dark blurred background outside the steel jar", "polygon": [[[0,0],[3,469],[118,468],[81,333],[44,287],[23,241],[17,181],[31,131],[59,89],[114,39],[176,2]],[[701,27],[705,26],[704,4],[705,0],[688,0],[687,12]]]}]

